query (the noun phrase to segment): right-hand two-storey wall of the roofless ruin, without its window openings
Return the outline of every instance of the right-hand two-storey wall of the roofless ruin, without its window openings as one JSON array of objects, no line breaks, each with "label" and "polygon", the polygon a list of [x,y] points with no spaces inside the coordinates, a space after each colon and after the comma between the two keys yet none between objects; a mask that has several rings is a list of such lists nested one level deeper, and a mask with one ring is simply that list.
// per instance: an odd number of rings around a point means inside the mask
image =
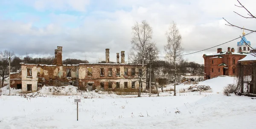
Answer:
[{"label": "right-hand two-storey wall of the roofless ruin, without its window openings", "polygon": [[[104,69],[104,75],[101,75],[101,68]],[[88,76],[88,70],[92,69],[92,76]],[[108,70],[112,69],[112,75],[108,76]],[[116,75],[116,69],[120,69],[120,75]],[[125,75],[125,69],[128,69],[127,75]],[[104,90],[117,91],[123,89],[138,89],[139,82],[137,81],[137,75],[131,74],[131,69],[137,69],[137,65],[130,64],[79,64],[79,87],[85,87],[88,89],[87,84],[93,83],[92,90],[101,89],[101,83],[104,84]],[[109,82],[112,86],[109,86]],[[127,88],[124,86],[127,82]],[[134,88],[132,88],[132,82],[135,82]],[[119,83],[119,89],[116,88],[116,84]],[[110,88],[111,87],[111,88]],[[143,83],[145,87],[145,83]],[[144,88],[145,89],[145,88]]]}]

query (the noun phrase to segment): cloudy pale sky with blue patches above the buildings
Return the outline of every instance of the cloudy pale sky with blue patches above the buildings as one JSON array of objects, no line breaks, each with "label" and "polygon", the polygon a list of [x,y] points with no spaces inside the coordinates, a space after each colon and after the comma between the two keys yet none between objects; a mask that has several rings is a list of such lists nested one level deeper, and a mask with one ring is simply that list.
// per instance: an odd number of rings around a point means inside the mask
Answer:
[{"label": "cloudy pale sky with blue patches above the buildings", "polygon": [[[255,0],[240,0],[256,15]],[[0,0],[0,51],[8,49],[17,56],[54,55],[63,46],[63,59],[77,58],[95,63],[105,60],[110,49],[110,61],[116,53],[125,51],[125,61],[131,48],[131,27],[136,21],[148,21],[153,29],[153,41],[164,56],[166,30],[172,21],[182,36],[184,54],[206,49],[242,35],[242,30],[225,25],[224,17],[238,26],[256,30],[256,19],[244,19],[233,11],[247,14],[236,7],[236,0]],[[248,33],[248,31],[245,31]],[[247,36],[256,46],[256,33]],[[219,46],[236,48],[236,40]],[[203,54],[213,54],[217,48],[184,56],[184,59],[204,63]],[[163,60],[163,59],[162,59]]]}]

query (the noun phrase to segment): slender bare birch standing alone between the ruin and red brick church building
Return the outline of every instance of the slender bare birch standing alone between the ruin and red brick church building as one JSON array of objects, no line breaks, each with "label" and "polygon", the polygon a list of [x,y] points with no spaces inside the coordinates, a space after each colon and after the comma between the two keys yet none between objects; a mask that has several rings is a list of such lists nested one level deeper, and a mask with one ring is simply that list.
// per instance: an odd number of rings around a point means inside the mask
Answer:
[{"label": "slender bare birch standing alone between the ruin and red brick church building", "polygon": [[182,59],[180,55],[183,52],[183,48],[181,47],[181,35],[175,22],[172,22],[169,26],[169,29],[166,32],[166,37],[167,45],[164,47],[164,50],[166,52],[167,60],[169,60],[174,66],[174,96],[176,96],[176,85],[178,83],[177,61]]}]

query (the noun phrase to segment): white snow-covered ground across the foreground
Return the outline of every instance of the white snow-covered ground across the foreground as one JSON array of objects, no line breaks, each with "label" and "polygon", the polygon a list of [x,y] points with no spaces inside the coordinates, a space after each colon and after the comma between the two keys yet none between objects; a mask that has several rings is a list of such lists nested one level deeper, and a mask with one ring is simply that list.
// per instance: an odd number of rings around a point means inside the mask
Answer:
[{"label": "white snow-covered ground across the foreground", "polygon": [[[229,83],[235,83],[233,77],[216,77],[199,82],[209,85],[212,92],[185,92],[177,96],[160,92],[160,97],[94,91],[49,95],[50,87],[43,87],[37,96],[33,94],[35,97],[2,95],[0,129],[255,129],[256,99],[224,96],[222,89]],[[178,85],[177,91],[189,86]],[[80,94],[72,86],[63,89],[61,94],[70,90]],[[78,121],[75,98],[81,98]]]}]

